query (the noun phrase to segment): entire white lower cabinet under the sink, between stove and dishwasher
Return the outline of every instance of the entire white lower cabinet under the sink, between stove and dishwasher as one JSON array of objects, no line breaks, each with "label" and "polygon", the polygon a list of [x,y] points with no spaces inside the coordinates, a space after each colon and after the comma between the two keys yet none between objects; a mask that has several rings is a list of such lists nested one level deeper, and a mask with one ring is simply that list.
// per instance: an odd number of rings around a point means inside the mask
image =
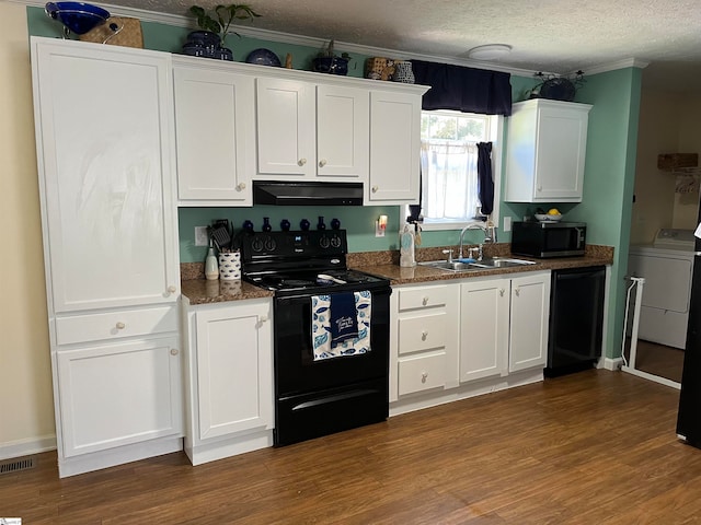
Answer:
[{"label": "entire white lower cabinet under the sink, between stove and dishwasher", "polygon": [[542,381],[550,271],[395,287],[390,415]]}]

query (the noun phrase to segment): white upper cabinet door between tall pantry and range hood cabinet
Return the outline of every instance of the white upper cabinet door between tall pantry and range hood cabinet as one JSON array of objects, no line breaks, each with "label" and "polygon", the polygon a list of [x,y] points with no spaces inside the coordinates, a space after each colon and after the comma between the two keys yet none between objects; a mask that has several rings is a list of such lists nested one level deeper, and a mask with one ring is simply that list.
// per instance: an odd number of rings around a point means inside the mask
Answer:
[{"label": "white upper cabinet door between tall pantry and range hood cabinet", "polygon": [[253,77],[176,66],[173,78],[179,198],[251,206]]}]

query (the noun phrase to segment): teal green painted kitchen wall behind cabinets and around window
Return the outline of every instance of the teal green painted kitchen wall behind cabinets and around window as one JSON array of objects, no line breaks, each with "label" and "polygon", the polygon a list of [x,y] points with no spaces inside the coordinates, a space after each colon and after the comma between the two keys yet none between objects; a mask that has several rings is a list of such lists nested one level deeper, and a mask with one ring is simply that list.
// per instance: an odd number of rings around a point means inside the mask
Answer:
[{"label": "teal green painted kitchen wall behind cabinets and around window", "polygon": [[[60,24],[48,19],[42,8],[27,8],[31,35],[60,37]],[[145,47],[169,52],[180,52],[188,30],[159,23],[142,22]],[[234,59],[243,61],[258,47],[275,51],[280,60],[292,54],[295,69],[311,69],[311,59],[318,49],[308,46],[265,42],[230,35],[227,45],[234,51]],[[338,49],[343,51],[342,48]],[[367,56],[356,55],[350,62],[349,75],[363,77]],[[512,75],[514,102],[528,98],[538,79]],[[632,195],[637,142],[637,116],[640,107],[641,70],[617,70],[586,77],[586,83],[577,91],[575,101],[593,104],[589,114],[584,201],[555,205],[571,220],[586,221],[588,240],[593,244],[613,246],[611,301],[609,303],[609,330],[605,348],[608,357],[620,355],[622,318],[624,308],[624,281],[630,236]],[[508,119],[505,128],[508,126]],[[503,149],[504,153],[504,149]],[[504,165],[504,163],[502,163]],[[503,191],[503,188],[502,188]],[[549,205],[539,205],[550,208]],[[504,202],[499,196],[501,215],[520,220],[535,211],[535,205]],[[375,237],[375,220],[379,214],[389,217],[387,235]],[[288,219],[292,228],[301,219],[313,224],[319,215],[326,224],[337,218],[348,231],[350,252],[397,249],[399,228],[404,222],[403,207],[271,207],[253,208],[181,208],[179,212],[181,261],[204,260],[206,248],[194,246],[195,226],[210,224],[216,219],[229,219],[238,229],[244,220],[251,220],[260,229],[264,217],[269,217],[274,229],[281,219]],[[457,230],[424,232],[423,246],[446,246],[458,243]],[[469,232],[467,241],[478,242],[479,232]],[[499,241],[508,242],[510,234],[499,231]]]}]

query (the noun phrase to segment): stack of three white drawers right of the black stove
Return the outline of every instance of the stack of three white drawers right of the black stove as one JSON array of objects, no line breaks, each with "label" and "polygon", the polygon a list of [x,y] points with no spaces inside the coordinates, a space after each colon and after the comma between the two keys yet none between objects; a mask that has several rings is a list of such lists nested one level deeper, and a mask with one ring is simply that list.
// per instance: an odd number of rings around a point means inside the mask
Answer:
[{"label": "stack of three white drawers right of the black stove", "polygon": [[390,302],[390,401],[458,385],[459,287],[401,287]]}]

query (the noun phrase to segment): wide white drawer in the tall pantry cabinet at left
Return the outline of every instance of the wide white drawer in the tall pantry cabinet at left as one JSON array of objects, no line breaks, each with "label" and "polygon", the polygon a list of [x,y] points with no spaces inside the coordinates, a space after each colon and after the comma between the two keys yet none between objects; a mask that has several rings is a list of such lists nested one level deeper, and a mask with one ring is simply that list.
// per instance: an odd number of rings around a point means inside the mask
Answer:
[{"label": "wide white drawer in the tall pantry cabinet at left", "polygon": [[117,339],[177,330],[177,306],[74,315],[56,319],[56,342]]}]

